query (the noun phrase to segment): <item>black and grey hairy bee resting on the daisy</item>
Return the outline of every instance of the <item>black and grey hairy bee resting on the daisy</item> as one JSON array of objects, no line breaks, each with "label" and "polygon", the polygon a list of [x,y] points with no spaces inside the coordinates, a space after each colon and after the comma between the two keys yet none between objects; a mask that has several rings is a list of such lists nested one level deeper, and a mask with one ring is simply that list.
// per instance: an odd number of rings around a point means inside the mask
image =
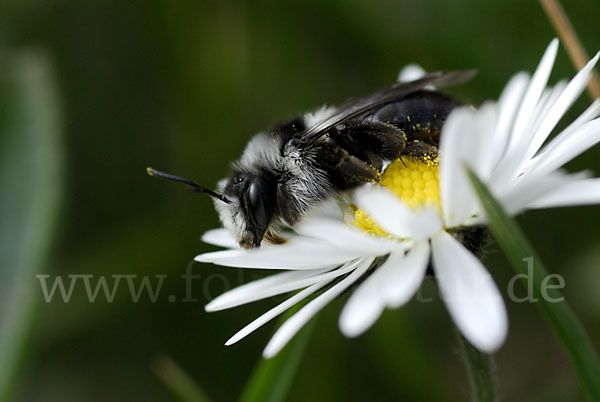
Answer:
[{"label": "black and grey hairy bee resting on the daisy", "polygon": [[152,168],[148,173],[211,196],[241,247],[277,243],[283,225],[293,226],[323,200],[377,182],[385,162],[436,156],[442,125],[462,103],[431,87],[473,75],[429,73],[280,122],[250,140],[216,191]]}]

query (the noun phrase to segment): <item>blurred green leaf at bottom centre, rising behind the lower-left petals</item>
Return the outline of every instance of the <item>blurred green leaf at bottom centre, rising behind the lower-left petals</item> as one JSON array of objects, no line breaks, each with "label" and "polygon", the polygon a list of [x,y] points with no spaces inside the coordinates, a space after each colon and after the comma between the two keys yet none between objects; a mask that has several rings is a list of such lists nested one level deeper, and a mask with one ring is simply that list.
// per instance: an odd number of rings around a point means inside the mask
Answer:
[{"label": "blurred green leaf at bottom centre, rising behind the lower-left petals", "polygon": [[[296,311],[297,308],[290,310],[284,318]],[[240,401],[278,402],[285,399],[315,322],[313,318],[275,357],[258,363]]]}]

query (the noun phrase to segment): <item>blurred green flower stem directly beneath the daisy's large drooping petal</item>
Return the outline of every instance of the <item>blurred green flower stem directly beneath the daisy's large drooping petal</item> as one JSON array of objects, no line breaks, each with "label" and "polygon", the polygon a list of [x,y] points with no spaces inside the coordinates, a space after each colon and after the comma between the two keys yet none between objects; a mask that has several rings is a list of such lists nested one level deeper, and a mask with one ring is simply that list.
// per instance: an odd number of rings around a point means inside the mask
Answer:
[{"label": "blurred green flower stem directly beneath the daisy's large drooping petal", "polygon": [[460,351],[469,377],[472,402],[496,402],[496,363],[492,355],[480,352],[461,334],[458,334]]}]

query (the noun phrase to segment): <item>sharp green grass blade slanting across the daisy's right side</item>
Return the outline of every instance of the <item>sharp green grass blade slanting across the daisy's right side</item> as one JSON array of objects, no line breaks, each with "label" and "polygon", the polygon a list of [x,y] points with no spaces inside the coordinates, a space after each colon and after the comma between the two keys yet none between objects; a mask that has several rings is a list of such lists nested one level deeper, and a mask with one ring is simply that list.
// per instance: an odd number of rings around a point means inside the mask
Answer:
[{"label": "sharp green grass blade slanting across the daisy's right side", "polygon": [[[533,297],[538,299],[536,306],[565,348],[587,396],[592,401],[600,401],[600,363],[583,327],[560,291],[552,287],[546,288],[545,292],[542,290],[544,280],[548,277],[548,271],[542,260],[534,252],[517,224],[506,215],[479,178],[471,171],[469,177],[498,244],[526,286],[526,278],[530,276],[533,282]],[[524,260],[529,262],[532,272],[528,272],[528,264],[525,264]]]}]

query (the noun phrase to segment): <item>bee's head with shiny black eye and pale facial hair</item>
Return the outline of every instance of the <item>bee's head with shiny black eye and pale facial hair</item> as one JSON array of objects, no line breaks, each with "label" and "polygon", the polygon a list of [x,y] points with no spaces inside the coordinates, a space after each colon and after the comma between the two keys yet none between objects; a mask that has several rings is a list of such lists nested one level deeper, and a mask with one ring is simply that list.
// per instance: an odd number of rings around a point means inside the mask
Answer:
[{"label": "bee's head with shiny black eye and pale facial hair", "polygon": [[273,186],[261,176],[234,173],[219,183],[219,190],[231,200],[215,199],[223,225],[243,248],[259,247],[273,219],[276,195]]}]

